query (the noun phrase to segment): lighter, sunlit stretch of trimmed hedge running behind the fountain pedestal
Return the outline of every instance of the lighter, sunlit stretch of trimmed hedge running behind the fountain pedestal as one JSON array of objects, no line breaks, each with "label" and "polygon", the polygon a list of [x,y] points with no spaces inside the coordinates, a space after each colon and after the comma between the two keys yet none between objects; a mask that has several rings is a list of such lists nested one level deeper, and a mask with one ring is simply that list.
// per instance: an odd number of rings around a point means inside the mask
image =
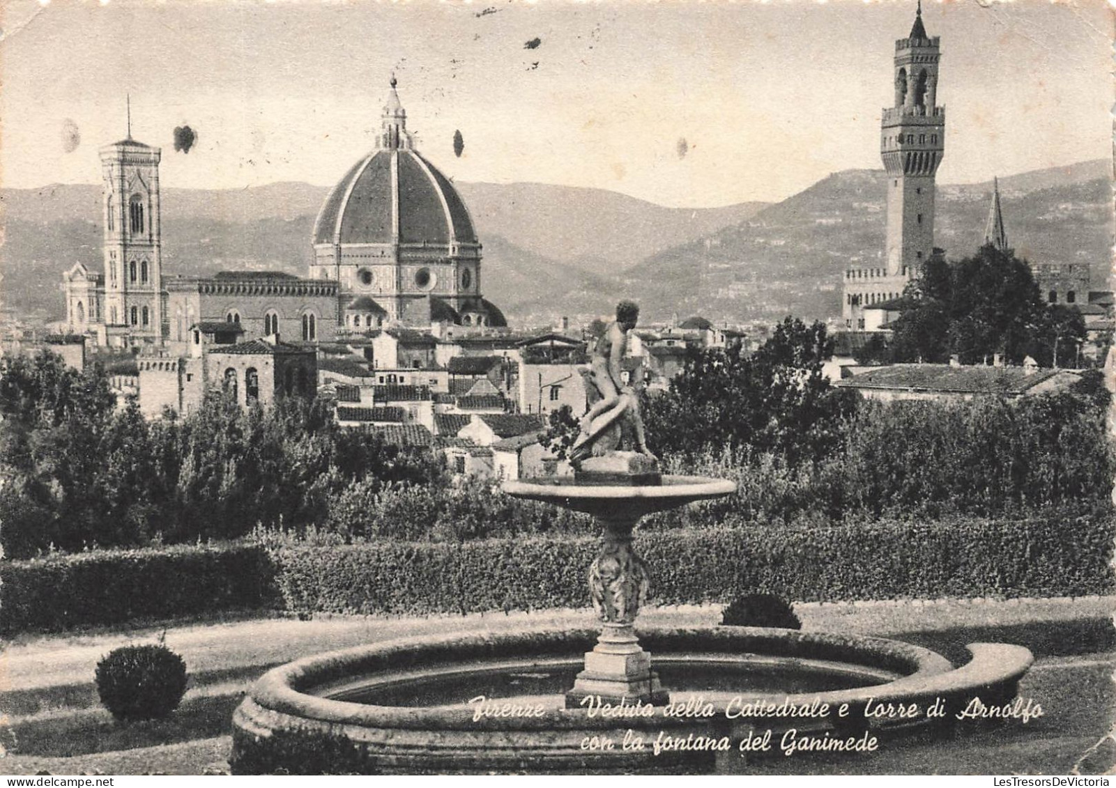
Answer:
[{"label": "lighter, sunlit stretch of trimmed hedge running behind the fountain pedestal", "polygon": [[[1109,515],[637,534],[661,604],[741,592],[798,602],[1110,594]],[[474,613],[583,607],[594,538],[377,541],[275,554],[288,611]]]}]

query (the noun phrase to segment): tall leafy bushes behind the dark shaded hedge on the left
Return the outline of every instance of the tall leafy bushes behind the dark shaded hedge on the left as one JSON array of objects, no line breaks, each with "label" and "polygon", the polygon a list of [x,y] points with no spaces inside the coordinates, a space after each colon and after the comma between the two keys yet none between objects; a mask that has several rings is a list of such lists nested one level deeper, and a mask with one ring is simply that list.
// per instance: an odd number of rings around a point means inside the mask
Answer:
[{"label": "tall leafy bushes behind the dark shaded hedge on the left", "polygon": [[219,394],[185,419],[115,406],[104,371],[50,354],[0,359],[6,555],[232,538],[321,521],[333,497],[425,483],[429,453],[339,429],[321,402],[244,411]]}]

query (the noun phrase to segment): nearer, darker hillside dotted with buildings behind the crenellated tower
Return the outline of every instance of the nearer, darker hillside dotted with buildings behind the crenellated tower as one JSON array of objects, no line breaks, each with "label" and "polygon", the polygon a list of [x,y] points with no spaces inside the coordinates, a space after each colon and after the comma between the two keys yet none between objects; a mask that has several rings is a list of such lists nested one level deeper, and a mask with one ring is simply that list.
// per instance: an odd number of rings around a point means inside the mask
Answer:
[{"label": "nearer, darker hillside dotted with buildings behind the crenellated tower", "polygon": [[[1008,238],[1043,262],[1089,262],[1106,287],[1113,218],[1104,162],[1022,173],[1000,182]],[[992,184],[940,186],[935,241],[960,258],[983,240]],[[731,228],[650,257],[622,275],[652,319],[701,313],[711,319],[840,314],[841,272],[883,259],[886,175],[835,173]]]}]

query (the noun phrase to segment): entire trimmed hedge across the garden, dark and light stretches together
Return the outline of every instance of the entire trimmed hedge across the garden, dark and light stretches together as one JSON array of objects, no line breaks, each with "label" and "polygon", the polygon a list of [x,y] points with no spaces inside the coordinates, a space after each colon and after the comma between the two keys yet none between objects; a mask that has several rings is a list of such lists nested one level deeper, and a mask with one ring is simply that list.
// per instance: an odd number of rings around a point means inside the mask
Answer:
[{"label": "entire trimmed hedge across the garden, dark and light stretches together", "polygon": [[[638,532],[660,604],[1085,596],[1116,590],[1108,511],[1018,520]],[[0,634],[281,607],[424,615],[584,607],[595,537],[97,551],[0,561]],[[278,596],[277,596],[278,595]]]}]

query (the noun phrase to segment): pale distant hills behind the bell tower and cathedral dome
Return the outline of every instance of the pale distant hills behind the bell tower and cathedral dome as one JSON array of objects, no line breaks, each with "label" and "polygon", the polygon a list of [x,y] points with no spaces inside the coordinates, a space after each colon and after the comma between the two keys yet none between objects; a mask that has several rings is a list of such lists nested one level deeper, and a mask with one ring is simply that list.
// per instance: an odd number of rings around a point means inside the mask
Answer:
[{"label": "pale distant hills behind the bell tower and cathedral dome", "polygon": [[[752,215],[762,203],[681,210],[595,189],[458,184],[484,244],[485,295],[517,321],[549,321],[576,305],[599,313],[602,277],[680,240]],[[275,183],[240,190],[163,190],[164,270],[305,273],[314,218],[328,189]],[[61,313],[59,282],[75,262],[97,270],[100,188],[0,190],[3,301],[26,316]],[[575,296],[573,299],[566,294]],[[591,305],[591,306],[590,306]],[[573,316],[573,315],[571,315]]]}]

